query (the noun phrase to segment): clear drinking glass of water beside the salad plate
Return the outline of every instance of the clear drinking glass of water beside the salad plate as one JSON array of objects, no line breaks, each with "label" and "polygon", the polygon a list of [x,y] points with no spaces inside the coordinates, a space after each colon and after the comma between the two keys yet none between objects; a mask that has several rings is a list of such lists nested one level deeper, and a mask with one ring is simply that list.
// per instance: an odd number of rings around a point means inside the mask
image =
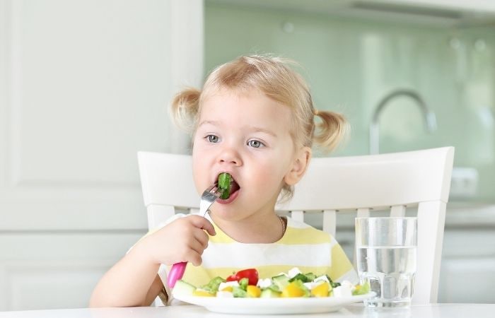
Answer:
[{"label": "clear drinking glass of water beside the salad plate", "polygon": [[416,275],[417,218],[356,218],[356,257],[361,283],[374,298],[367,307],[411,304]]}]

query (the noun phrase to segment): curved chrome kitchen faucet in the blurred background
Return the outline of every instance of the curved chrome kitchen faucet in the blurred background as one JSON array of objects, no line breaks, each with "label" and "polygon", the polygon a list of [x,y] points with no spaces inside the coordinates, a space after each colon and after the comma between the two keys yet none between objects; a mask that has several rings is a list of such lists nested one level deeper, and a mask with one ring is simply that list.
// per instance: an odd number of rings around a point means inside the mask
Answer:
[{"label": "curved chrome kitchen faucet in the blurred background", "polygon": [[386,105],[388,105],[388,102],[390,102],[390,100],[402,95],[409,96],[409,98],[412,98],[412,100],[414,100],[417,103],[418,107],[421,108],[426,124],[426,131],[433,132],[436,130],[435,113],[433,113],[430,110],[430,108],[426,105],[426,103],[424,102],[423,98],[421,98],[421,95],[419,95],[419,93],[415,92],[414,90],[409,90],[404,88],[392,90],[392,92],[388,93],[388,95],[385,95],[385,97],[383,97],[382,100],[378,102],[378,106],[376,107],[375,112],[373,113],[373,119],[371,119],[370,153],[372,155],[379,153],[380,128],[378,125],[378,119],[380,117],[380,114],[383,111],[383,108]]}]

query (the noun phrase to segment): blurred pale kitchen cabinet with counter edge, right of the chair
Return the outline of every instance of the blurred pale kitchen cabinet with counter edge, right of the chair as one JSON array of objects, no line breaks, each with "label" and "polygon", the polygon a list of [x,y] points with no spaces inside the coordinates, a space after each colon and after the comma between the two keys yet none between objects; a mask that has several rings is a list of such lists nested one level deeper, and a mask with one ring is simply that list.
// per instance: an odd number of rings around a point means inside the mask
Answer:
[{"label": "blurred pale kitchen cabinet with counter edge, right of the chair", "polygon": [[495,303],[495,206],[450,203],[439,302]]}]

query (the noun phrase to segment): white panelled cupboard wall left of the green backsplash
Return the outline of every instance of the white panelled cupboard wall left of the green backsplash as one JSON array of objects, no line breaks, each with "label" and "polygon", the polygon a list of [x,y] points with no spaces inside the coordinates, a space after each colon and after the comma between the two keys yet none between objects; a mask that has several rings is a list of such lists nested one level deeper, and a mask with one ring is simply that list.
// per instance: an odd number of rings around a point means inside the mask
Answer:
[{"label": "white panelled cupboard wall left of the green backsplash", "polygon": [[136,151],[187,151],[201,0],[0,0],[0,311],[86,307],[146,231]]}]

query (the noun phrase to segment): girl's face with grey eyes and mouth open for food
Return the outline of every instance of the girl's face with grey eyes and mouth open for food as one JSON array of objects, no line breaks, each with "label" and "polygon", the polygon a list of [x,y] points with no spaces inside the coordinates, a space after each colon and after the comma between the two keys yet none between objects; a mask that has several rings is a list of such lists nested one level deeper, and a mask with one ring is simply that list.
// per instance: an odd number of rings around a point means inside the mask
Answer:
[{"label": "girl's face with grey eyes and mouth open for food", "polygon": [[[297,151],[289,133],[291,110],[253,91],[221,90],[202,105],[192,151],[199,193],[228,172],[238,191],[211,211],[225,220],[273,213],[284,181],[291,184]],[[237,188],[237,187],[235,187]]]}]

